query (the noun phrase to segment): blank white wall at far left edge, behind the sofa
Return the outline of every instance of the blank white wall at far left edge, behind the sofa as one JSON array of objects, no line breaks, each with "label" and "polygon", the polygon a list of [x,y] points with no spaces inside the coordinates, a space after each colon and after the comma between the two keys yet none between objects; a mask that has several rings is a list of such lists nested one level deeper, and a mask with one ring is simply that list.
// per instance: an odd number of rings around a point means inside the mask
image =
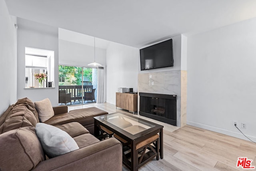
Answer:
[{"label": "blank white wall at far left edge, behind the sofa", "polygon": [[0,115],[17,100],[17,30],[16,18],[9,15],[5,1],[0,0]]}]

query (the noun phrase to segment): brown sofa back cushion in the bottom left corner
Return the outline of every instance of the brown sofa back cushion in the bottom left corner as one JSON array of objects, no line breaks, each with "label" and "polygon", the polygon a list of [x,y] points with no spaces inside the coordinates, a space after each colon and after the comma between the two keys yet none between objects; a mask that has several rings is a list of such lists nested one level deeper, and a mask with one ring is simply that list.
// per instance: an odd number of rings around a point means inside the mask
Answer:
[{"label": "brown sofa back cushion in the bottom left corner", "polygon": [[0,170],[27,171],[45,155],[34,127],[22,127],[0,135]]}]

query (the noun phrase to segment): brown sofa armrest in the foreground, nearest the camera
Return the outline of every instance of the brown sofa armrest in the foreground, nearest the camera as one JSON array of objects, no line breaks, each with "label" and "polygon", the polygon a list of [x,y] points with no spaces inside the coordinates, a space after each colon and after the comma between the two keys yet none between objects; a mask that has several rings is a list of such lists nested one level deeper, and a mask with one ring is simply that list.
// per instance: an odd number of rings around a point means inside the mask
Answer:
[{"label": "brown sofa armrest in the foreground, nearest the camera", "polygon": [[121,171],[122,144],[114,137],[40,162],[38,171]]}]

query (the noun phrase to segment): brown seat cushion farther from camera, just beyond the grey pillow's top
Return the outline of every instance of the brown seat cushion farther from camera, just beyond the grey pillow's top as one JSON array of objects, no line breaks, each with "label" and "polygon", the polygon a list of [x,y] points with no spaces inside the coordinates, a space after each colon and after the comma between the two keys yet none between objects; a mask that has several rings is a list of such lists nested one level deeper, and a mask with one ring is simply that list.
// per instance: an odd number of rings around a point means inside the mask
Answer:
[{"label": "brown seat cushion farther from camera, just beyond the grey pillow's top", "polygon": [[70,122],[55,126],[68,133],[68,135],[70,135],[72,138],[83,135],[85,133],[89,133],[89,131],[78,122]]}]

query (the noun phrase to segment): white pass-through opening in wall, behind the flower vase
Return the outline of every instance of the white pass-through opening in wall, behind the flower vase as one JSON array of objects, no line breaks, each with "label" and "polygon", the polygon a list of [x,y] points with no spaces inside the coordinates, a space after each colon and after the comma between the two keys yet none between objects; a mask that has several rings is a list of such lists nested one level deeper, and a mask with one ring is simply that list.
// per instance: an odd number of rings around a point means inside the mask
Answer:
[{"label": "white pass-through opening in wall, behind the flower vase", "polygon": [[35,48],[25,48],[25,87],[39,87],[39,81],[34,74],[47,74],[42,87],[53,87],[54,81],[54,51]]}]

